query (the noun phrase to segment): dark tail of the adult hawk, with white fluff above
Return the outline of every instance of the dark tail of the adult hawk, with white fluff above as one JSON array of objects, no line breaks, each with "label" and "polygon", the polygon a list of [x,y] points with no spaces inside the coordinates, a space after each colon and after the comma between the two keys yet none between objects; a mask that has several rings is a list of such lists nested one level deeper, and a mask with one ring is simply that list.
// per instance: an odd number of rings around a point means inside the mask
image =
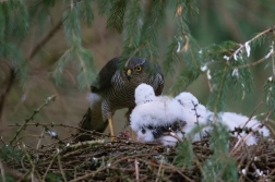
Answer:
[{"label": "dark tail of the adult hawk, with white fluff above", "polygon": [[[101,113],[101,97],[97,94],[89,94],[87,99],[91,102],[91,107],[87,109],[86,113],[83,116],[79,128],[80,133],[84,133],[85,131],[95,131],[103,133],[108,125],[108,122],[103,121],[103,113]],[[79,141],[91,141],[93,139],[89,134],[83,134],[79,137]]]}]

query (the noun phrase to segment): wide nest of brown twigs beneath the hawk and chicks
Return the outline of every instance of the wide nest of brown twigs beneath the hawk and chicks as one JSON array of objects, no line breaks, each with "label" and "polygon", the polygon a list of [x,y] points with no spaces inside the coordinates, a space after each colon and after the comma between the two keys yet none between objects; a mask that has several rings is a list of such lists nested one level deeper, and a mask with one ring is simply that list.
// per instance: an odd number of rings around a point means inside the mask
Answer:
[{"label": "wide nest of brown twigs beneath the hawk and chicks", "polygon": [[[44,133],[50,134],[46,125],[41,126]],[[194,142],[194,161],[184,167],[176,163],[177,147],[144,144],[123,135],[110,142],[108,135],[88,133],[93,138],[88,142],[74,142],[80,133],[64,139],[51,133],[51,143],[41,145],[40,137],[36,147],[19,141],[7,145],[2,139],[5,146],[0,149],[1,172],[19,181],[201,181],[202,163],[213,154],[207,138]],[[272,139],[231,147],[229,154],[237,162],[239,181],[275,180]]]}]

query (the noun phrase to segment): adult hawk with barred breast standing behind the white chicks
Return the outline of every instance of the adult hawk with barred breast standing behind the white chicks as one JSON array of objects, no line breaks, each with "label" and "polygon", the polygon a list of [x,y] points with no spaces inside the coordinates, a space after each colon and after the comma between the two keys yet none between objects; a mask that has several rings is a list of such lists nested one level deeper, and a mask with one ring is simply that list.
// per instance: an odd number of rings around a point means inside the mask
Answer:
[{"label": "adult hawk with barred breast standing behind the white chicks", "polygon": [[[101,69],[91,86],[88,100],[91,107],[83,117],[80,128],[104,132],[109,123],[113,136],[112,116],[116,110],[129,108],[128,116],[135,107],[134,90],[141,83],[151,85],[155,95],[160,95],[164,87],[164,75],[158,64],[143,58],[130,58],[120,69],[121,58],[113,58]],[[91,139],[83,135],[80,141]]]}]

